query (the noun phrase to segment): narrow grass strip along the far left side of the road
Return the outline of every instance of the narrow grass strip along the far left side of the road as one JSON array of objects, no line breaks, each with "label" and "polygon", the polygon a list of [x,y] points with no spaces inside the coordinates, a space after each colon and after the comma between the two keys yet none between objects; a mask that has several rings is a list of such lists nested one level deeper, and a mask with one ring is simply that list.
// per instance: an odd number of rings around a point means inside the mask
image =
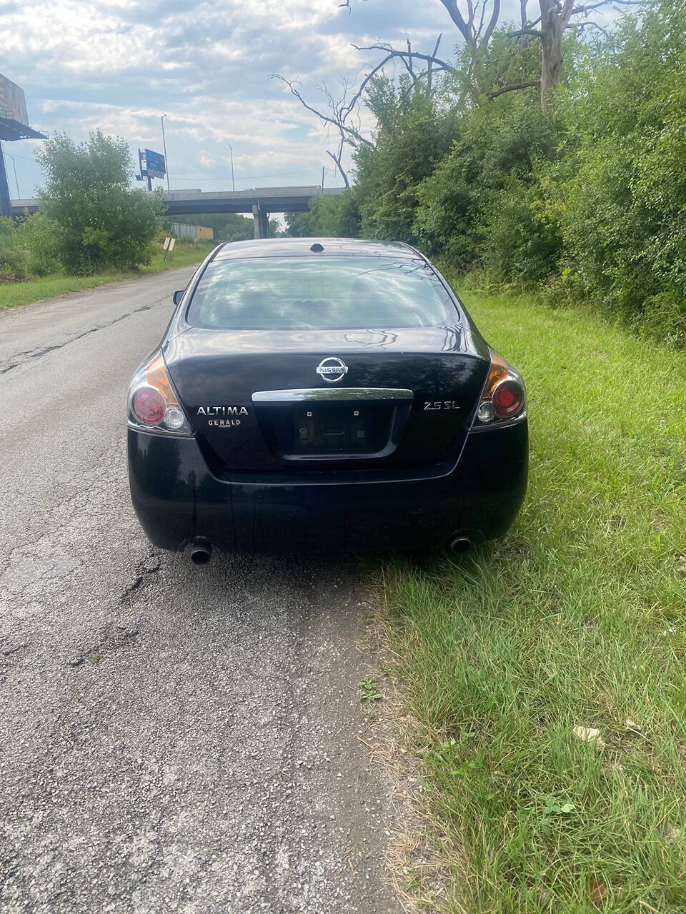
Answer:
[{"label": "narrow grass strip along the far left side of the road", "polygon": [[136,279],[149,273],[160,273],[199,263],[209,254],[213,245],[200,242],[197,245],[179,244],[171,260],[164,260],[162,250],[156,251],[153,260],[138,270],[111,271],[97,273],[94,276],[68,276],[65,273],[54,273],[25,282],[7,282],[0,285],[0,310],[14,308],[18,304],[38,302],[68,292],[81,292],[86,289],[97,289],[110,282]]}]

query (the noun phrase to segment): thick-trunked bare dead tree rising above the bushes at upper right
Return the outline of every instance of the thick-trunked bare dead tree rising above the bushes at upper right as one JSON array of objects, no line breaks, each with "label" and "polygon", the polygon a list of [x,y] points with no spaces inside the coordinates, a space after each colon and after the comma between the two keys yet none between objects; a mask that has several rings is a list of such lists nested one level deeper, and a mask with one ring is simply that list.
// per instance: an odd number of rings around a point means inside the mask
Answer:
[{"label": "thick-trunked bare dead tree rising above the bushes at upper right", "polygon": [[563,72],[563,35],[566,29],[584,29],[596,27],[605,32],[599,23],[588,19],[588,15],[603,6],[640,6],[642,0],[595,0],[590,4],[575,3],[575,0],[538,0],[541,16],[535,22],[529,22],[527,16],[528,0],[520,0],[521,28],[510,32],[510,37],[520,37],[528,41],[530,37],[541,40],[541,80],[513,83],[501,86],[488,93],[488,99],[496,99],[504,92],[528,89],[531,86],[541,88],[541,106],[545,110],[552,91],[559,85]]}]

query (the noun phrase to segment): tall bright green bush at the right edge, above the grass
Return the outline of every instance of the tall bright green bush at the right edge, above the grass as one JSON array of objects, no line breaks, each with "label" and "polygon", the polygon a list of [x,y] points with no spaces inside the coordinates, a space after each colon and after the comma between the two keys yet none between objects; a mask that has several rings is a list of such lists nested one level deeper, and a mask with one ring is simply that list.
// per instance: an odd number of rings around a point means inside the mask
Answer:
[{"label": "tall bright green bush at the right edge, above the grass", "polygon": [[686,336],[686,7],[651,5],[589,55],[564,101],[577,145],[558,180],[565,259],[640,332]]}]

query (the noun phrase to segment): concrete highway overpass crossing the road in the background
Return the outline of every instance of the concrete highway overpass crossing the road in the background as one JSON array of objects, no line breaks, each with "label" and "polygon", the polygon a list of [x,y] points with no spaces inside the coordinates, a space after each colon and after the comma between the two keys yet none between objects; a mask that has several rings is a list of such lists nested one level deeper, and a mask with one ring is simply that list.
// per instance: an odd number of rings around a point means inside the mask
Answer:
[{"label": "concrete highway overpass crossing the road in the background", "polygon": [[[252,213],[255,238],[269,236],[270,213],[304,213],[313,197],[336,197],[343,187],[252,187],[249,190],[172,190],[165,192],[167,216],[201,213]],[[38,200],[12,201],[12,214],[38,212]]]}]

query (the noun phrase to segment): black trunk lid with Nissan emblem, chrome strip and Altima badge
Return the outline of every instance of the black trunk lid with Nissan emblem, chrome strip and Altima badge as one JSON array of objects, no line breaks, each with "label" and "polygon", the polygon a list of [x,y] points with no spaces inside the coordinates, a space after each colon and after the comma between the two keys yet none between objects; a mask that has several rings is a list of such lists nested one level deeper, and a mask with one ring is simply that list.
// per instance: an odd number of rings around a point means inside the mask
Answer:
[{"label": "black trunk lid with Nissan emblem, chrome strip and Altima badge", "polygon": [[459,325],[191,328],[165,357],[220,477],[440,464],[459,454],[488,372]]}]

